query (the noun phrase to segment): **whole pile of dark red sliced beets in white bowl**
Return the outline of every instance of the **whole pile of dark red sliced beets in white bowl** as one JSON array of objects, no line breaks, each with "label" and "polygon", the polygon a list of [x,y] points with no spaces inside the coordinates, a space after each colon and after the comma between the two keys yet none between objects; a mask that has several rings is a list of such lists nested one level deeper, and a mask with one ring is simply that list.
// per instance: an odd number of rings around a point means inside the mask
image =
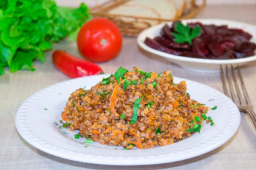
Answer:
[{"label": "whole pile of dark red sliced beets in white bowl", "polygon": [[[180,21],[177,21],[180,22]],[[251,34],[241,29],[228,28],[228,26],[203,25],[200,22],[188,23],[193,30],[195,26],[201,29],[201,36],[189,43],[174,42],[171,32],[175,32],[175,24],[164,25],[159,37],[146,38],[145,43],[151,48],[169,54],[189,56],[193,58],[232,59],[253,56],[256,44],[249,42]]]}]

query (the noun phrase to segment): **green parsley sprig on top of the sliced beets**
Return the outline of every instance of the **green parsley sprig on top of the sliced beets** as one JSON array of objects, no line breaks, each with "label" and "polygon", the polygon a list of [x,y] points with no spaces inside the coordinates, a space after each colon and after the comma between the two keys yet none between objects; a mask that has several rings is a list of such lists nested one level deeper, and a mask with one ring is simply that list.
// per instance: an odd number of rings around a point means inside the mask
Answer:
[{"label": "green parsley sprig on top of the sliced beets", "polygon": [[201,36],[201,29],[198,25],[191,30],[189,26],[184,26],[181,22],[175,22],[174,30],[175,32],[171,34],[174,36],[174,42],[177,43],[189,42],[189,44],[192,44],[194,38]]}]

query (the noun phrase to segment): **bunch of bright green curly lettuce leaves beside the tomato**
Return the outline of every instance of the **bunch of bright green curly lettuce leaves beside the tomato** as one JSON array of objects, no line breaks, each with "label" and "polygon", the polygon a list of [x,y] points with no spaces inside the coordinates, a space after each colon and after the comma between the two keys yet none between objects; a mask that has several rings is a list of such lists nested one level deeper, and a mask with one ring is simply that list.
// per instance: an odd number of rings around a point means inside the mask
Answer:
[{"label": "bunch of bright green curly lettuce leaves beside the tomato", "polygon": [[0,1],[0,75],[29,69],[45,60],[45,50],[69,34],[75,35],[90,18],[88,7],[59,7],[53,0]]}]

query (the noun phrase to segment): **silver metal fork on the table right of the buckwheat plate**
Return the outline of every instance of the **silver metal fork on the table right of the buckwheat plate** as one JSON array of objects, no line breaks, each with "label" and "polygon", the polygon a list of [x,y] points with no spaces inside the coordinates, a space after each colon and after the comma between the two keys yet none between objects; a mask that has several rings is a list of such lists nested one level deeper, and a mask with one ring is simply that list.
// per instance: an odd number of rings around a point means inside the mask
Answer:
[{"label": "silver metal fork on the table right of the buckwheat plate", "polygon": [[249,98],[247,89],[245,87],[245,83],[243,81],[240,68],[238,67],[238,65],[236,65],[235,67],[233,65],[231,65],[231,67],[228,67],[226,65],[225,69],[226,69],[226,72],[224,72],[222,65],[220,66],[220,70],[222,73],[223,89],[224,89],[225,95],[227,95],[228,97],[230,97],[230,99],[234,101],[237,108],[241,112],[245,112],[249,114],[256,128],[256,114],[255,112],[253,112],[253,104],[251,103],[251,99]]}]

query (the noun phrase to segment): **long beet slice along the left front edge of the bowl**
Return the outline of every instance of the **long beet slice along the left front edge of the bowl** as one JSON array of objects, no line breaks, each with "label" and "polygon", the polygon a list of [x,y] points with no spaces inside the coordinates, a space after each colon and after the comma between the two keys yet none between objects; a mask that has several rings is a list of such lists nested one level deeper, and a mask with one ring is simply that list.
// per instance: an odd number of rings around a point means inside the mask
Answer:
[{"label": "long beet slice along the left front edge of the bowl", "polygon": [[145,44],[147,44],[151,48],[154,48],[155,50],[160,50],[162,52],[167,52],[169,54],[174,54],[174,55],[177,55],[177,56],[182,56],[182,54],[183,54],[183,52],[181,52],[181,51],[172,50],[170,48],[162,46],[161,44],[159,44],[155,40],[152,40],[151,38],[148,38],[148,37],[146,38],[146,40],[144,42],[145,42]]}]

